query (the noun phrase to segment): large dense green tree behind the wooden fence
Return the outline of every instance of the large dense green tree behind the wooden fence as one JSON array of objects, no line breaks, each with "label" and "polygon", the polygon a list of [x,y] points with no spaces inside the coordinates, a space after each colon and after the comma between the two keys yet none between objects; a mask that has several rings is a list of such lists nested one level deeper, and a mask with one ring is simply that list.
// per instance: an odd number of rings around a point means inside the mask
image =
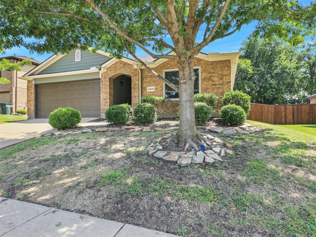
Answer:
[{"label": "large dense green tree behind the wooden fence", "polygon": [[297,47],[250,35],[240,48],[234,88],[262,104],[305,102],[302,61]]}]

